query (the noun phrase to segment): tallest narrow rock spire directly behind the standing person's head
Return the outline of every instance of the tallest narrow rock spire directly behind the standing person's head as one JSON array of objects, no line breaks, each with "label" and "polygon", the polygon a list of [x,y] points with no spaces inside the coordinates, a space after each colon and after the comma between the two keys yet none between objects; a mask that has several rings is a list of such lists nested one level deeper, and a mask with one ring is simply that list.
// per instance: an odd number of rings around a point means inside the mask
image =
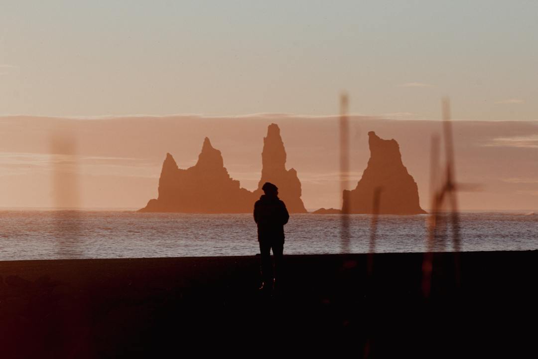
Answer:
[{"label": "tallest narrow rock spire directly behind the standing person's head", "polygon": [[261,186],[265,182],[271,182],[278,187],[279,197],[286,203],[289,213],[307,213],[301,200],[301,182],[297,171],[293,168],[286,170],[286,150],[277,124],[272,123],[267,128],[261,165],[261,179],[258,189],[254,191],[256,198],[263,194]]}]

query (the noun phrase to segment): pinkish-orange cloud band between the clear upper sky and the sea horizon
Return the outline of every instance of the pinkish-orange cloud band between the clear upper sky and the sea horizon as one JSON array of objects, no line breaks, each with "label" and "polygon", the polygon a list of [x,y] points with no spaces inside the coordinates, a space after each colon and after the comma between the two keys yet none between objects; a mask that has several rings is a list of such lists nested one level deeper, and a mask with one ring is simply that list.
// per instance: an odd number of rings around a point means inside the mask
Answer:
[{"label": "pinkish-orange cloud band between the clear upper sky and the sea horizon", "polygon": [[[231,177],[253,191],[271,123],[280,127],[286,167],[298,173],[305,207],[339,208],[338,117],[291,115],[0,117],[0,207],[142,208],[157,198],[166,153],[180,168],[193,166],[206,136],[221,151]],[[441,134],[441,126],[352,116],[347,188],[357,186],[370,157],[367,133],[376,131],[397,140],[420,204],[429,209],[431,136]],[[459,208],[537,211],[538,123],[455,121],[453,126],[456,180],[479,189],[459,193]],[[55,191],[65,194],[60,202]]]}]

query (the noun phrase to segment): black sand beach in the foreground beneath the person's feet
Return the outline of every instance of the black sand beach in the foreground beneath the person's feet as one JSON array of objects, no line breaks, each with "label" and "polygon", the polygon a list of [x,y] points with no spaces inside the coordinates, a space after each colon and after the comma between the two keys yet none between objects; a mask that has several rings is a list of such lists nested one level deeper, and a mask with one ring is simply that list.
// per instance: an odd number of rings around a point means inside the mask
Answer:
[{"label": "black sand beach in the foreground beneath the person's feet", "polygon": [[0,262],[0,348],[147,357],[288,343],[464,357],[534,342],[538,251],[436,253],[428,297],[423,259],[375,254],[368,274],[368,255],[285,256],[273,297],[258,292],[255,256]]}]

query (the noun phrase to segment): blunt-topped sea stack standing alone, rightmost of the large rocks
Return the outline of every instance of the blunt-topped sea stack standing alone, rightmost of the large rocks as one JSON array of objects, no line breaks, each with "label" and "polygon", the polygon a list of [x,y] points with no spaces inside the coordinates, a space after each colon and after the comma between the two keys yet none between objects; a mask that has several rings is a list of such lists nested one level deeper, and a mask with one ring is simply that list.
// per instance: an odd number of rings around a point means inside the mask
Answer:
[{"label": "blunt-topped sea stack standing alone, rightmost of the large rocks", "polygon": [[344,191],[342,212],[373,213],[377,203],[379,214],[422,214],[419,191],[413,177],[402,163],[400,146],[394,139],[381,139],[368,132],[370,160],[363,177],[352,191]]}]

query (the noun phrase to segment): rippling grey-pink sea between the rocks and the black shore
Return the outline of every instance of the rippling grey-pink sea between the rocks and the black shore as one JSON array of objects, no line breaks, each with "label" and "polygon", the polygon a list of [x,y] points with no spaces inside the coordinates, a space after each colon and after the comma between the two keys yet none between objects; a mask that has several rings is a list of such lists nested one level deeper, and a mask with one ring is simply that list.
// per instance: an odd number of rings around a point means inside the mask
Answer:
[{"label": "rippling grey-pink sea between the rocks and the black shore", "polygon": [[[426,249],[426,215],[380,216],[376,252]],[[342,216],[292,215],[286,254],[342,253]],[[461,214],[463,251],[538,249],[535,214]],[[370,250],[371,216],[349,216],[349,252]],[[434,250],[453,250],[450,230]],[[0,260],[238,256],[258,252],[250,214],[0,211]]]}]

